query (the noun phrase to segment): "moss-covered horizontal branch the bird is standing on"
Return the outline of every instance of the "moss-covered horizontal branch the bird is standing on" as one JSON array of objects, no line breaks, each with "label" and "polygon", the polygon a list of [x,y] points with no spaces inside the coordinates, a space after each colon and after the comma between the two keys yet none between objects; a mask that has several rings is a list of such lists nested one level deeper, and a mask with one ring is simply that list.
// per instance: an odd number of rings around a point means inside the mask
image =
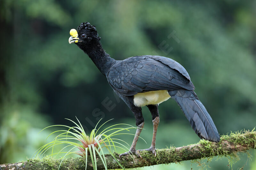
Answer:
[{"label": "moss-covered horizontal branch the bird is standing on", "polygon": [[[156,158],[151,152],[141,152],[142,159],[138,159],[134,156],[134,160],[131,156],[124,156],[120,160],[118,154],[116,159],[125,168],[135,168],[143,166],[151,166],[158,164],[169,164],[173,162],[180,162],[183,160],[201,159],[214,156],[228,156],[236,154],[237,152],[246,152],[250,149],[256,148],[256,131],[243,131],[231,133],[230,135],[223,135],[220,138],[219,143],[209,142],[206,140],[200,140],[197,144],[191,144],[182,147],[171,147],[167,149],[158,149],[156,151]],[[111,155],[105,155],[108,169],[120,168]],[[27,170],[27,169],[58,169],[61,159],[44,158],[44,159],[29,159],[25,162],[14,164],[0,165],[0,170]],[[101,160],[97,161],[97,168],[99,170],[105,169]],[[64,159],[61,163],[60,169],[85,169],[84,158],[69,158]],[[87,169],[91,170],[92,162],[88,157]]]}]

